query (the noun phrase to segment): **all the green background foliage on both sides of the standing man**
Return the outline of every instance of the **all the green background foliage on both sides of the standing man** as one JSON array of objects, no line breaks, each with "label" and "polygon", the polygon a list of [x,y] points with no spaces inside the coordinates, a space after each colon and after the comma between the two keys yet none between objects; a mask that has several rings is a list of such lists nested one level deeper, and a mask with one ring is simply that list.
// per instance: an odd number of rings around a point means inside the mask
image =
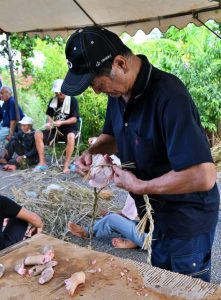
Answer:
[{"label": "all the green background foliage on both sides of the standing man", "polygon": [[[214,31],[220,33],[220,25],[213,21],[207,23]],[[51,92],[53,81],[64,78],[67,65],[65,59],[65,41],[61,37],[51,39],[45,37],[30,38],[27,35],[11,36],[13,49],[22,53],[22,66],[26,81],[17,72],[16,80],[21,90],[29,89],[28,97],[24,103],[28,107],[28,98],[36,114],[39,114],[39,103],[42,112],[45,111]],[[203,126],[209,132],[216,132],[221,119],[221,43],[220,40],[205,27],[189,24],[186,28],[178,30],[170,27],[160,38],[150,38],[142,44],[135,44],[133,38],[127,45],[135,54],[145,54],[156,67],[177,75],[187,85],[201,115]],[[43,67],[29,65],[30,57],[34,51],[44,55]],[[20,76],[20,77],[19,77]],[[33,82],[33,83],[32,83]],[[31,90],[31,92],[30,92]],[[19,94],[21,95],[21,93]],[[32,99],[33,95],[33,99]],[[83,138],[86,143],[89,136],[97,135],[102,129],[107,97],[95,95],[88,89],[78,97],[80,114],[83,118]],[[33,116],[33,115],[32,115]]]}]

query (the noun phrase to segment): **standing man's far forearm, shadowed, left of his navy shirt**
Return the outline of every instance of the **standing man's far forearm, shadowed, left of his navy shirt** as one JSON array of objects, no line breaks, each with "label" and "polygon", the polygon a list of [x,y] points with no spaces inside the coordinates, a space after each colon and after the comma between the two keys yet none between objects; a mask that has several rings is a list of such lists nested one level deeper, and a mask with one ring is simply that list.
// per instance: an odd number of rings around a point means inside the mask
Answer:
[{"label": "standing man's far forearm, shadowed, left of his navy shirt", "polygon": [[115,138],[112,135],[101,134],[96,142],[88,148],[90,154],[115,154],[117,152],[117,145],[115,142]]}]

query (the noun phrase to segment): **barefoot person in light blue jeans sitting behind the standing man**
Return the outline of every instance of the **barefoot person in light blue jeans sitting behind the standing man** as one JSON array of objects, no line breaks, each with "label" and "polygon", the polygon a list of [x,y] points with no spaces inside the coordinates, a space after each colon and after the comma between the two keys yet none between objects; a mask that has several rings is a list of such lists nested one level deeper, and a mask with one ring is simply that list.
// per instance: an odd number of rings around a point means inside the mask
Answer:
[{"label": "barefoot person in light blue jeans sitting behind the standing man", "polygon": [[[93,227],[94,236],[97,238],[112,237],[114,248],[132,249],[142,248],[146,233],[141,236],[137,233],[137,209],[134,199],[127,195],[123,209],[117,213],[103,213],[104,217],[96,221]],[[69,231],[78,237],[86,238],[89,235],[88,227],[81,227],[74,222],[68,223]],[[115,236],[115,237],[113,237]]]}]

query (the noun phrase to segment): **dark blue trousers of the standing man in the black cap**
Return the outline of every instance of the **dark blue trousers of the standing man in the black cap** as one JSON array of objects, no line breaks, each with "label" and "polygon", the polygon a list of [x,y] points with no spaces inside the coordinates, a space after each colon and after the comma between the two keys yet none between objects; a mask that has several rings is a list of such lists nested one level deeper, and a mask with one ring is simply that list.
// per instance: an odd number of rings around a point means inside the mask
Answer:
[{"label": "dark blue trousers of the standing man in the black cap", "polygon": [[215,230],[191,239],[171,239],[154,229],[152,241],[152,264],[204,281],[210,281],[211,248]]}]

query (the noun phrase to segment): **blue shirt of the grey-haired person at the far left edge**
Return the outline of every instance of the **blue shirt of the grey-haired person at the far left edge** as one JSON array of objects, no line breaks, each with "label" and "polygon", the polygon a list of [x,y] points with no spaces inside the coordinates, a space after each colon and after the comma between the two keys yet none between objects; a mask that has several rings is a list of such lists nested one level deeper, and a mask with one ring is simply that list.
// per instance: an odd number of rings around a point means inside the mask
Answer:
[{"label": "blue shirt of the grey-haired person at the far left edge", "polygon": [[[24,117],[23,111],[19,106],[20,120]],[[10,127],[10,121],[16,120],[15,99],[10,97],[2,105],[2,127]]]}]

